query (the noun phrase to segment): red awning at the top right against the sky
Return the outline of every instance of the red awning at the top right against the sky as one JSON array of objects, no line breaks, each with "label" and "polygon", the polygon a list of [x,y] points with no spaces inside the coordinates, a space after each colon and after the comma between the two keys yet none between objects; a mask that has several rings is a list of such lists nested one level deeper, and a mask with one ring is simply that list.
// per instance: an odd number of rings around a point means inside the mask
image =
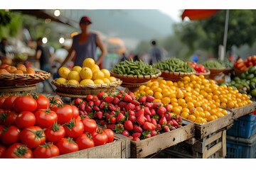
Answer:
[{"label": "red awning at the top right against the sky", "polygon": [[188,16],[190,20],[206,19],[218,13],[220,9],[185,9],[181,16],[182,20]]}]

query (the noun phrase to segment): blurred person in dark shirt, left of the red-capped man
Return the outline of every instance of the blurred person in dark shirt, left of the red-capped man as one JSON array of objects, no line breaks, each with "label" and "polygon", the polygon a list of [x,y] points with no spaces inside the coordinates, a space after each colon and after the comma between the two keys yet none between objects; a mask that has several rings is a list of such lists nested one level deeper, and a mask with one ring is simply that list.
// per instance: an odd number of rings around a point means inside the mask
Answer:
[{"label": "blurred person in dark shirt, left of the red-capped man", "polygon": [[[49,47],[47,47],[46,45],[43,45],[42,38],[38,38],[36,43],[37,43],[37,47],[36,47],[35,58],[36,60],[40,61],[40,69],[45,72],[51,73],[50,61],[53,60],[54,55],[50,52]],[[54,91],[53,85],[50,84],[49,79],[46,79],[43,81],[43,91],[46,91],[46,82],[49,84],[50,89]]]}]

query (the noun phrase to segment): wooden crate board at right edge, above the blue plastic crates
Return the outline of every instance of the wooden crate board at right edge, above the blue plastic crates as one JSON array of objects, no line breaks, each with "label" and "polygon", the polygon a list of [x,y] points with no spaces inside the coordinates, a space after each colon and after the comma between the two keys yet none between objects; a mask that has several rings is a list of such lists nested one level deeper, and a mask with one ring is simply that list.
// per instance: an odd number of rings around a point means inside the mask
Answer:
[{"label": "wooden crate board at right edge, above the blue plastic crates", "polygon": [[243,115],[247,115],[249,113],[252,113],[253,111],[256,111],[256,102],[252,102],[250,105],[242,106],[240,108],[234,108],[233,111],[233,119],[240,118]]}]

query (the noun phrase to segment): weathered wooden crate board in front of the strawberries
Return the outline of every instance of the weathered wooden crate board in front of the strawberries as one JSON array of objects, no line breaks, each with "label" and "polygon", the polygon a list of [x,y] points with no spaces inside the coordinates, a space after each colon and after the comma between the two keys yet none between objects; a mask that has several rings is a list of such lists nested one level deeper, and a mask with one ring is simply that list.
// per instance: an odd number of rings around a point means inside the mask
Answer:
[{"label": "weathered wooden crate board in front of the strawberries", "polygon": [[183,127],[145,140],[131,141],[131,157],[144,158],[195,136],[195,125],[183,120]]}]

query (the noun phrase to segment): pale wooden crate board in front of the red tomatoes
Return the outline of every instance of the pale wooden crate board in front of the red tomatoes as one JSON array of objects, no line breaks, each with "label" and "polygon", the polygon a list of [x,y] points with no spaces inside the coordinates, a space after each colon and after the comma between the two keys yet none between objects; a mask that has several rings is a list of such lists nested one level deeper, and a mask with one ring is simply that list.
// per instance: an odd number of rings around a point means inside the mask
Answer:
[{"label": "pale wooden crate board in front of the red tomatoes", "polygon": [[120,134],[114,134],[114,140],[114,142],[106,145],[83,149],[69,154],[61,154],[53,158],[129,158],[131,154],[130,139]]}]

